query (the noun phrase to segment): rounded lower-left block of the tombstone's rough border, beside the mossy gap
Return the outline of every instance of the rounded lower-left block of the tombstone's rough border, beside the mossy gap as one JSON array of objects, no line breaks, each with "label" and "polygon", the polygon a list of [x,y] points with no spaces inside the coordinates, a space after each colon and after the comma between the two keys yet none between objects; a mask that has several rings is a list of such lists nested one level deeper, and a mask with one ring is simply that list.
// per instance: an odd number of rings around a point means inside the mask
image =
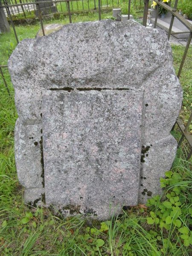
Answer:
[{"label": "rounded lower-left block of the tombstone's rough border, beside the mossy gap", "polygon": [[26,188],[43,188],[42,124],[28,120],[15,125],[15,162],[18,179]]}]

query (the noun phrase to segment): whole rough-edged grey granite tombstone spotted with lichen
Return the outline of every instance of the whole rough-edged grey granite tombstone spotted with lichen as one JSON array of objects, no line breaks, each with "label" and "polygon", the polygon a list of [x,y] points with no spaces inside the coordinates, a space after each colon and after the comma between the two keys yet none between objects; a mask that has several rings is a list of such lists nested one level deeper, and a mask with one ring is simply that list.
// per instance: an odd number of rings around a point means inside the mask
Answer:
[{"label": "whole rough-edged grey granite tombstone spotted with lichen", "polygon": [[161,193],[182,89],[166,34],[134,20],[75,23],[9,58],[25,202],[107,219]]}]

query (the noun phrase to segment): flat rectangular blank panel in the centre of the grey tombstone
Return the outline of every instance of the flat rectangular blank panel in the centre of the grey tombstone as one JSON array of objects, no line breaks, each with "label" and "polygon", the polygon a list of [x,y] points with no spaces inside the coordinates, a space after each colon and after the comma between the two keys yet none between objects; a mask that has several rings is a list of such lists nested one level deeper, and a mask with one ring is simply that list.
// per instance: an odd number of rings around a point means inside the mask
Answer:
[{"label": "flat rectangular blank panel in the centre of the grey tombstone", "polygon": [[110,204],[137,205],[142,109],[140,90],[46,92],[46,203],[101,218]]}]

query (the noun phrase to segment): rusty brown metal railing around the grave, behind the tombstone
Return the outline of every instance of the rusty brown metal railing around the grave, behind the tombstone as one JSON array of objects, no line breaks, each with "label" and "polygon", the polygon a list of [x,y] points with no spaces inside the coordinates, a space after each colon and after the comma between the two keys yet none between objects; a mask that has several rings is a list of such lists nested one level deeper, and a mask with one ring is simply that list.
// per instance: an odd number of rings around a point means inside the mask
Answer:
[{"label": "rusty brown metal railing around the grave, behind the tombstone", "polygon": [[[44,25],[43,25],[43,17],[47,16],[47,15],[50,15],[50,12],[48,13],[48,10],[51,6],[55,7],[55,10],[56,10],[55,13],[66,13],[67,12],[67,14],[69,16],[69,22],[70,23],[72,23],[72,13],[75,12],[75,11],[96,10],[98,12],[98,19],[101,20],[102,9],[113,8],[113,7],[119,6],[119,0],[54,0],[54,1],[53,0],[49,0],[49,1],[40,0],[40,1],[36,1],[36,2],[35,1],[34,2],[32,2],[32,1],[27,2],[27,0],[23,0],[23,2],[22,2],[22,0],[19,0],[20,1],[19,4],[17,4],[16,0],[15,0],[15,4],[13,3],[13,0],[3,0],[3,1],[4,1],[4,6],[2,6],[1,8],[6,9],[6,13],[7,13],[7,15],[9,17],[9,20],[10,20],[10,22],[12,24],[12,27],[13,27],[13,31],[14,31],[14,34],[15,34],[15,39],[17,41],[17,44],[19,43],[19,41],[18,41],[16,30],[15,30],[15,25],[14,25],[14,22],[13,22],[13,17],[16,15],[16,13],[17,13],[17,15],[22,14],[25,17],[26,12],[27,13],[32,13],[32,11],[36,10],[36,15],[38,16],[38,19],[40,21],[43,35],[45,35]],[[125,2],[125,0],[122,0],[122,1]],[[156,12],[156,17],[155,17],[155,21],[154,21],[154,28],[157,26],[158,11],[159,11],[160,6],[163,7],[164,9],[166,9],[168,12],[170,12],[172,14],[171,23],[170,23],[169,32],[168,32],[168,40],[170,38],[170,35],[172,34],[172,26],[173,26],[173,22],[174,22],[175,18],[180,20],[180,22],[183,23],[186,26],[187,29],[189,29],[189,38],[188,38],[185,50],[183,52],[183,58],[182,58],[182,61],[180,63],[179,71],[177,73],[177,77],[180,78],[180,74],[182,72],[183,64],[185,62],[186,55],[187,55],[187,52],[188,52],[188,49],[189,49],[189,46],[190,46],[190,43],[191,43],[191,39],[192,39],[192,24],[189,23],[188,20],[186,20],[182,15],[180,15],[177,12],[178,0],[175,0],[175,5],[174,5],[173,8],[166,5],[165,3],[161,2],[160,0],[154,0],[154,2],[157,3],[157,12]],[[137,3],[139,4],[139,6],[142,6],[141,0],[134,0],[134,4],[137,5]],[[147,23],[148,5],[149,5],[149,0],[144,0],[143,26],[146,26],[146,23]],[[47,12],[42,11],[42,8],[46,9],[47,7],[49,7],[47,9]],[[127,7],[128,7],[128,19],[129,19],[130,9],[131,9],[130,8],[131,7],[131,0],[128,0]],[[52,13],[51,13],[51,15],[52,15]],[[7,68],[7,66],[5,66],[5,65],[0,66],[0,75],[3,79],[3,82],[6,86],[7,91],[9,93],[9,88],[7,86],[7,83],[6,83],[6,79],[3,76],[3,68]],[[178,146],[180,146],[180,144],[182,143],[184,138],[189,143],[190,152],[186,157],[187,160],[189,160],[189,158],[192,155],[192,136],[188,132],[188,128],[189,128],[189,125],[190,125],[191,122],[192,122],[192,113],[189,117],[189,120],[188,120],[186,126],[184,126],[183,123],[179,119],[177,119],[177,121],[175,123],[175,125],[177,124],[180,131],[182,132],[182,136],[180,138]],[[173,129],[175,128],[175,125],[174,125]]]}]

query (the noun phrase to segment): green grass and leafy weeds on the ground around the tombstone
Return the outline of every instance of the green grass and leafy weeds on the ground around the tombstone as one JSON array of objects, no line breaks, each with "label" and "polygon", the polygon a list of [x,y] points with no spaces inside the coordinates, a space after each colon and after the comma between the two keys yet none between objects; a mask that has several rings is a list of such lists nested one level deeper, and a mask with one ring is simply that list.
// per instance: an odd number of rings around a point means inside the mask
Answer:
[{"label": "green grass and leafy weeds on the ground around the tombstone", "polygon": [[[105,18],[103,14],[102,18]],[[108,14],[109,15],[109,14]],[[73,21],[97,20],[97,15],[74,15]],[[53,22],[53,21],[50,21]],[[68,20],[57,20],[67,23]],[[34,38],[39,24],[17,26],[19,40]],[[13,32],[0,36],[0,60],[6,64],[15,48]],[[184,47],[172,46],[178,70]],[[181,74],[184,90],[181,118],[189,116],[192,48]],[[23,188],[17,180],[14,160],[14,126],[17,113],[14,90],[6,69],[8,95],[0,78],[0,255],[7,256],[191,256],[192,162],[186,161],[186,143],[177,151],[171,171],[161,179],[163,195],[147,205],[130,207],[109,221],[62,218],[43,207],[23,204]],[[178,140],[177,129],[173,135]]]}]

